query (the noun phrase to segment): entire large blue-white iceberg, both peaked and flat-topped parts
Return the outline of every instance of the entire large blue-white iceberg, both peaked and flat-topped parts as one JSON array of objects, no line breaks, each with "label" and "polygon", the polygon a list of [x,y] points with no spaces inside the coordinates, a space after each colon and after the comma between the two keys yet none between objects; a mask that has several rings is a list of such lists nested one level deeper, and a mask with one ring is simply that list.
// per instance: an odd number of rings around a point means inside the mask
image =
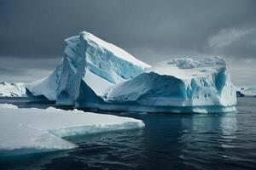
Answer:
[{"label": "entire large blue-white iceberg, both peaked and flat-topped parts", "polygon": [[236,88],[221,57],[171,59],[150,66],[88,32],[65,40],[49,77],[26,84],[57,105],[107,111],[236,111]]}]

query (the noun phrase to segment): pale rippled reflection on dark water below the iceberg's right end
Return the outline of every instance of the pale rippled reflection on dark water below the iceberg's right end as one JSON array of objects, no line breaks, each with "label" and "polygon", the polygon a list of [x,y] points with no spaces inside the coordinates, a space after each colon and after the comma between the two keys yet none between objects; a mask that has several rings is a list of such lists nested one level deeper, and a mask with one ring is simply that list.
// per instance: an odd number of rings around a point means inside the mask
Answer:
[{"label": "pale rippled reflection on dark water below the iceberg's right end", "polygon": [[179,157],[196,169],[214,167],[227,155],[223,148],[236,139],[236,124],[236,113],[183,117],[184,130],[179,140],[183,149]]}]

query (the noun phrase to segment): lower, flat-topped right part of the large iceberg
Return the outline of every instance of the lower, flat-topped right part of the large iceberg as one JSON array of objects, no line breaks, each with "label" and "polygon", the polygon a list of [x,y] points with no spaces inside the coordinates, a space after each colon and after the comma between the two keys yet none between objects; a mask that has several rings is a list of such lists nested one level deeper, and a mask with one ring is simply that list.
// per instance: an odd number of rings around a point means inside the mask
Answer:
[{"label": "lower, flat-topped right part of the large iceberg", "polygon": [[125,111],[226,112],[236,111],[236,88],[221,57],[172,59],[113,86],[104,100]]}]

